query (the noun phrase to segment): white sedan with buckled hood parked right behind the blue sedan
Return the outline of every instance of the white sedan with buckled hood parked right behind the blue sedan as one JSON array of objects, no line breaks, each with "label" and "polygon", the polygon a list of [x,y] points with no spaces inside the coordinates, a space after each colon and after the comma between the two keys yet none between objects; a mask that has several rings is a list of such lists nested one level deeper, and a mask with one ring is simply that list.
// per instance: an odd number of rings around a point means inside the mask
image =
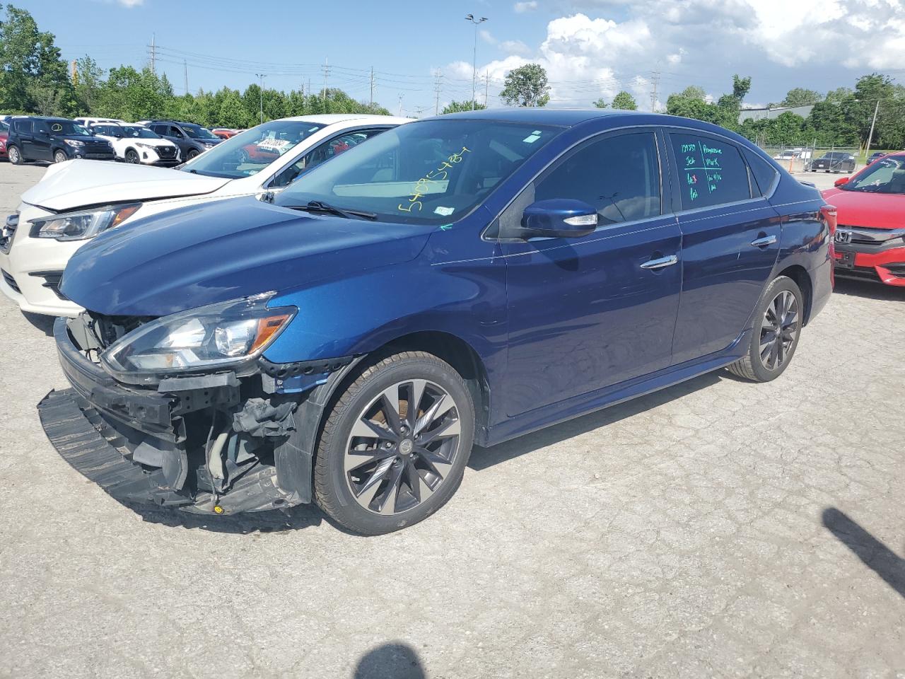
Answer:
[{"label": "white sedan with buckled hood parked right behind the blue sedan", "polygon": [[69,258],[106,229],[210,200],[266,197],[301,173],[405,118],[319,115],[272,120],[176,168],[69,160],[48,167],[6,218],[0,291],[23,311],[75,316],[59,291]]}]

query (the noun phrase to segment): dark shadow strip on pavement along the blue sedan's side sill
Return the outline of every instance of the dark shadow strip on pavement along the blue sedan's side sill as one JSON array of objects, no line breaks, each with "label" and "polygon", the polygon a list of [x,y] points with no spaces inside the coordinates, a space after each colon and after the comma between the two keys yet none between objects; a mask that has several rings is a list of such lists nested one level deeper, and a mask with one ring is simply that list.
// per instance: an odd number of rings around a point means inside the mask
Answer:
[{"label": "dark shadow strip on pavement along the blue sedan's side sill", "polygon": [[539,448],[557,444],[573,436],[586,434],[602,426],[612,425],[614,422],[623,420],[626,417],[662,406],[676,398],[688,396],[700,389],[710,387],[719,382],[721,378],[728,376],[729,373],[723,370],[716,370],[681,382],[681,384],[655,391],[653,394],[633,398],[616,406],[610,406],[585,416],[576,417],[558,425],[548,426],[532,434],[519,436],[519,438],[514,438],[499,445],[493,445],[490,448],[475,446],[468,465],[476,471],[487,469],[494,464],[506,462],[519,455],[532,453]]}]

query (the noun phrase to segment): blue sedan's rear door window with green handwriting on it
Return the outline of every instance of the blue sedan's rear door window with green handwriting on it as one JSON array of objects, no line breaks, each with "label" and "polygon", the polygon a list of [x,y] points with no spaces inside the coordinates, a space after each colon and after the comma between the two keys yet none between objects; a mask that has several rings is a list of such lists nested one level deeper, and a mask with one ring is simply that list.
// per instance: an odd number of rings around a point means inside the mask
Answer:
[{"label": "blue sedan's rear door window with green handwriting on it", "polygon": [[748,200],[748,167],[738,147],[706,135],[670,134],[678,170],[681,209]]}]

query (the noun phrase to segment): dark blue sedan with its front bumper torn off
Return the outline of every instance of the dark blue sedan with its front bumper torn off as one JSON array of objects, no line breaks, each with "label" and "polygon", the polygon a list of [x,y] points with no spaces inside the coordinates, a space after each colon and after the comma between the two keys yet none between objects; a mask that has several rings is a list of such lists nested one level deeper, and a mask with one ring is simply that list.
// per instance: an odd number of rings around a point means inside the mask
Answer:
[{"label": "dark blue sedan with its front bumper torn off", "polygon": [[62,292],[87,311],[54,330],[71,388],[39,411],[119,499],[316,501],[395,531],[472,445],[718,368],[777,378],[832,292],[833,228],[813,186],[696,120],[419,120],[82,247]]}]

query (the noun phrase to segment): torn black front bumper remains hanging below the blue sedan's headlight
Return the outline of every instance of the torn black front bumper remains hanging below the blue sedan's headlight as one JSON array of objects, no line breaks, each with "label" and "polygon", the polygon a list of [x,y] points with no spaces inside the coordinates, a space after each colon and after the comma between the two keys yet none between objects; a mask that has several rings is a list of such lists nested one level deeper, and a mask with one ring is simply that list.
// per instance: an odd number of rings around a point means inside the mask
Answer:
[{"label": "torn black front bumper remains hanging below the blue sedan's headlight", "polygon": [[[71,388],[38,404],[44,432],[63,459],[114,498],[217,514],[310,502],[310,455],[298,454],[299,436],[286,430],[254,439],[232,426],[233,416],[249,417],[233,373],[168,379],[157,391],[128,387],[82,355],[65,319],[53,332]],[[207,464],[217,417],[228,437],[224,451],[254,452],[233,461],[224,452],[219,481]]]}]

